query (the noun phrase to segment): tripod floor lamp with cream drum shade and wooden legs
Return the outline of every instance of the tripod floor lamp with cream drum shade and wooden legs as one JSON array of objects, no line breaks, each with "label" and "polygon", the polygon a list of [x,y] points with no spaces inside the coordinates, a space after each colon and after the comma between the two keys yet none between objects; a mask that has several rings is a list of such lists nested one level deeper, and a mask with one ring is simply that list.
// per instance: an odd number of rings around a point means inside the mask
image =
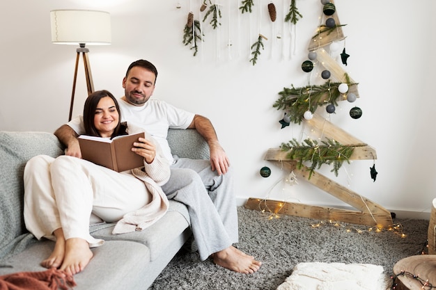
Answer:
[{"label": "tripod floor lamp with cream drum shade and wooden legs", "polygon": [[111,44],[111,18],[109,13],[95,10],[52,10],[50,11],[52,27],[52,42],[60,45],[79,45],[76,49],[75,75],[72,82],[70,102],[70,114],[72,118],[74,106],[77,70],[79,67],[80,54],[84,60],[86,87],[88,95],[94,91],[91,65],[89,65],[86,45],[110,45]]}]

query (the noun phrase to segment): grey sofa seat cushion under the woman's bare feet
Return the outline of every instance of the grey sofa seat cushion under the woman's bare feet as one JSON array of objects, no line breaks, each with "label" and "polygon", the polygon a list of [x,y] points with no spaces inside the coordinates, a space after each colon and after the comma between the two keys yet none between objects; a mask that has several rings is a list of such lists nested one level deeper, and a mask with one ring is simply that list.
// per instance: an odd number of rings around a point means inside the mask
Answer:
[{"label": "grey sofa seat cushion under the woman's bare feet", "polygon": [[[40,262],[49,257],[53,247],[54,242],[47,240],[31,245],[14,257],[13,267],[0,268],[0,275],[47,270],[40,266]],[[108,241],[91,250],[94,257],[86,266],[86,271],[74,276],[77,283],[75,290],[142,289],[141,285],[132,282],[146,280],[148,275],[146,269],[150,262],[150,251],[145,245],[130,241]]]}]

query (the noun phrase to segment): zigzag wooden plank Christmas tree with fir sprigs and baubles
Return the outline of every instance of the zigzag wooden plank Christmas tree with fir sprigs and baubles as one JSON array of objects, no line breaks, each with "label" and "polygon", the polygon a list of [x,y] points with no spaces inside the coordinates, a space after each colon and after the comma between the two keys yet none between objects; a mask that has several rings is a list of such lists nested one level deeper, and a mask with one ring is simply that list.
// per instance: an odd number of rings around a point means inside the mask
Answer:
[{"label": "zigzag wooden plank Christmas tree with fir sprigs and baubles", "polygon": [[[392,218],[387,209],[316,171],[322,164],[329,164],[334,166],[334,172],[337,175],[337,170],[344,161],[377,159],[373,147],[348,134],[348,132],[316,113],[317,108],[322,106],[326,107],[327,113],[334,113],[338,102],[344,100],[355,102],[359,97],[357,83],[348,76],[343,67],[327,52],[327,49],[330,52],[337,49],[338,42],[344,40],[345,37],[334,1],[322,0],[321,2],[323,4],[325,24],[320,25],[316,35],[311,38],[308,49],[309,60],[304,61],[302,70],[311,72],[313,67],[319,65],[322,67],[322,79],[326,81],[321,85],[310,85],[304,88],[295,88],[294,86],[292,88],[283,88],[279,92],[280,97],[274,107],[284,111],[283,120],[280,121],[282,129],[288,126],[290,122],[297,124],[304,122],[313,129],[322,131],[322,135],[326,140],[318,143],[308,139],[304,140],[305,144],[303,145],[300,145],[296,140],[291,140],[289,143],[282,143],[280,148],[268,150],[265,160],[283,166],[283,168],[293,172],[295,177],[306,180],[306,182],[342,200],[356,210],[318,207],[277,200],[261,200],[259,198],[249,198],[245,207],[258,210],[268,209],[274,213],[280,212],[291,216],[389,227],[392,225]],[[347,65],[347,58],[348,54],[345,53],[344,46],[341,54],[343,65]],[[355,106],[351,109],[350,116],[354,119],[360,118],[361,109]],[[304,165],[307,162],[311,162],[312,165],[310,167]],[[371,177],[374,181],[376,176],[377,172],[375,166],[373,166],[371,168]]]}]

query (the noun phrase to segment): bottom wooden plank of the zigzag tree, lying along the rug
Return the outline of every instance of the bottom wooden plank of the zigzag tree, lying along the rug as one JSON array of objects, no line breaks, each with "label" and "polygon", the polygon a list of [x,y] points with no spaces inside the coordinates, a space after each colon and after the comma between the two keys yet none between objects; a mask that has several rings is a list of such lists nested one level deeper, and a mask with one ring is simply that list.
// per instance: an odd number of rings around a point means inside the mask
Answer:
[{"label": "bottom wooden plank of the zigzag tree, lying along the rug", "polygon": [[[318,207],[308,204],[294,202],[281,202],[278,200],[260,200],[249,198],[245,206],[247,209],[258,211],[271,211],[274,214],[286,214],[288,216],[301,216],[303,218],[313,218],[316,220],[341,220],[345,223],[355,223],[358,225],[391,225],[391,220],[385,220],[384,216],[377,214],[364,213],[361,211],[351,211],[346,209],[336,209],[334,207]],[[377,220],[375,223],[374,218]],[[382,220],[382,222],[378,222]]]}]

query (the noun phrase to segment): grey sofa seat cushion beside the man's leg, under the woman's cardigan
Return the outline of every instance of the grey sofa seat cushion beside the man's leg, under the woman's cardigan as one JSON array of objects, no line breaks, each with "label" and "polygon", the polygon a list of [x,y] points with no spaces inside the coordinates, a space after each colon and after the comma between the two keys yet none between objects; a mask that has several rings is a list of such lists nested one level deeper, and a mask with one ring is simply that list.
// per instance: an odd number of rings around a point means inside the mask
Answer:
[{"label": "grey sofa seat cushion beside the man's leg, under the woman's cardigan", "polygon": [[189,227],[189,214],[185,205],[169,200],[169,211],[157,223],[141,232],[112,234],[114,226],[114,223],[91,225],[90,232],[95,238],[105,241],[123,240],[142,243],[150,249],[150,260],[154,261],[174,239],[180,239],[181,244],[185,242],[182,239],[187,237],[182,233]]}]

